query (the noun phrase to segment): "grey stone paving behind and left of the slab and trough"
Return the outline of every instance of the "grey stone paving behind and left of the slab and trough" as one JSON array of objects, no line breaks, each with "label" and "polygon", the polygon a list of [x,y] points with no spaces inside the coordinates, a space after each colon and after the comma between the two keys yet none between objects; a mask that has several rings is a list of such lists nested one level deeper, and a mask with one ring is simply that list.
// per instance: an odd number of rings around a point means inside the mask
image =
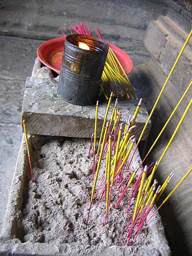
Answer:
[{"label": "grey stone paving behind and left of the slab and trough", "polygon": [[[60,36],[74,22],[99,27],[108,40],[126,51],[136,67],[150,60],[144,47],[149,20],[166,14],[168,1],[11,1],[0,3],[0,229],[22,139],[20,113],[26,77],[31,75],[40,39]],[[91,14],[91,15],[90,15]],[[99,19],[98,19],[99,16]],[[169,236],[169,232],[168,232]],[[170,232],[172,236],[172,232]],[[171,245],[176,248],[176,244]],[[176,251],[176,250],[174,250]],[[181,255],[174,253],[173,255]],[[185,254],[188,255],[188,254]]]}]

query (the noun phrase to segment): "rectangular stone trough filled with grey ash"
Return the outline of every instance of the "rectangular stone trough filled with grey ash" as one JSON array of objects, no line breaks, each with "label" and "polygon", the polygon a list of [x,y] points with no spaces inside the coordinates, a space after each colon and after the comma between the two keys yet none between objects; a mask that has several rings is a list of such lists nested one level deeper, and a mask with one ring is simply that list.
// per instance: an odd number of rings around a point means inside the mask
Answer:
[{"label": "rectangular stone trough filled with grey ash", "polygon": [[[123,208],[111,209],[103,226],[105,203],[95,203],[86,226],[93,185],[92,161],[85,156],[89,140],[33,136],[30,148],[35,181],[30,180],[23,138],[1,233],[5,255],[170,255],[158,215],[145,225],[133,247],[117,233],[127,223]],[[137,152],[131,168],[140,162]]]}]

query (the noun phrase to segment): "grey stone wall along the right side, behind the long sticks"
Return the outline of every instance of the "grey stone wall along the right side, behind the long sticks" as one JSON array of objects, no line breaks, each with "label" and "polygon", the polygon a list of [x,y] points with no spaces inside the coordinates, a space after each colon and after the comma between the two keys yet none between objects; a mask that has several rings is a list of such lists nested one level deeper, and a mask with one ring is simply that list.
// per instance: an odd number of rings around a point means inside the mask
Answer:
[{"label": "grey stone wall along the right side, behind the long sticks", "polygon": [[[190,30],[191,20],[181,13],[175,13],[173,10],[169,11],[166,16],[159,16],[157,20],[149,22],[145,37],[145,47],[151,53],[152,60],[145,63],[145,68],[140,67],[141,71],[145,74],[145,80],[148,81],[148,84],[152,88],[150,94],[145,95],[148,100],[147,106],[149,110],[152,108],[153,102],[158,92],[160,92],[166,76],[172,68]],[[164,125],[169,114],[176,106],[178,100],[180,100],[192,79],[191,50],[192,39],[190,39],[185,52],[183,52],[153,115],[148,146],[150,146],[150,141],[152,142],[154,140],[158,131]],[[160,158],[166,143],[168,143],[170,136],[173,134],[191,97],[192,88],[190,88],[180,108],[178,108],[177,113],[165,130],[161,142],[158,143],[155,151],[151,154],[151,159],[157,160]],[[158,179],[160,180],[164,180],[170,171],[175,172],[175,177],[168,191],[173,189],[174,185],[178,183],[192,164],[191,120],[192,111],[190,109],[158,170]],[[174,244],[174,255],[192,255],[191,193],[192,183],[190,175],[172,196],[169,203],[162,209],[162,216],[164,216],[164,224],[169,236],[169,242],[172,245]]]}]

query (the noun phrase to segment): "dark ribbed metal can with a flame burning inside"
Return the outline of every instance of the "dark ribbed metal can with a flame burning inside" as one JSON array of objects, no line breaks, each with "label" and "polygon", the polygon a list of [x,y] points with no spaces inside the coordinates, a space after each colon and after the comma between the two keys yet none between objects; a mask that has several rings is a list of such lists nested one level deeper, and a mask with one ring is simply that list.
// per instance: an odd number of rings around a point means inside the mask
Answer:
[{"label": "dark ribbed metal can with a flame burning inside", "polygon": [[72,104],[95,104],[107,52],[107,44],[93,36],[66,36],[57,93]]}]

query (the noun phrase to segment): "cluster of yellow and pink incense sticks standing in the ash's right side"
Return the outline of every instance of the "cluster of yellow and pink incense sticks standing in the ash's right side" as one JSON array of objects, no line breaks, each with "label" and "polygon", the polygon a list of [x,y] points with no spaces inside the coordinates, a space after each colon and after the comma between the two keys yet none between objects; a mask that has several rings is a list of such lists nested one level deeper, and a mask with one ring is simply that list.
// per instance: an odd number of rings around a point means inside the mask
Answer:
[{"label": "cluster of yellow and pink incense sticks standing in the ash's right side", "polygon": [[[182,52],[184,51],[187,43],[189,42],[191,35],[192,35],[192,30],[190,31],[190,34],[187,37],[186,42],[183,44],[183,47],[175,63],[173,64],[173,67],[170,70],[170,73],[167,79],[165,80],[164,85],[162,86],[162,89],[155,101],[155,104],[153,105],[151,113],[149,114],[147,122],[145,123],[143,130],[141,131],[137,144],[135,143],[136,139],[134,135],[132,135],[131,133],[134,127],[137,114],[140,109],[141,100],[137,105],[137,108],[135,110],[135,113],[133,114],[133,117],[132,116],[128,117],[126,125],[124,125],[123,127],[123,124],[120,123],[120,118],[122,116],[122,113],[118,112],[117,110],[117,107],[118,107],[117,101],[115,102],[114,109],[112,110],[110,122],[107,122],[108,110],[110,108],[111,100],[112,100],[112,93],[108,100],[106,114],[103,121],[102,131],[101,131],[101,135],[100,135],[99,143],[97,147],[95,146],[96,135],[94,134],[94,151],[93,151],[94,183],[93,183],[93,189],[91,193],[90,208],[87,216],[87,224],[89,221],[90,209],[91,209],[91,204],[93,203],[93,200],[95,199],[98,199],[99,201],[106,200],[106,213],[105,213],[105,217],[103,217],[103,222],[105,225],[107,222],[107,215],[110,210],[110,200],[111,200],[112,193],[114,194],[114,197],[116,199],[116,204],[114,207],[117,209],[119,208],[120,204],[125,204],[125,202],[123,201],[124,196],[126,195],[127,189],[131,188],[130,200],[128,201],[128,204],[127,204],[128,224],[126,229],[124,230],[124,232],[127,232],[127,245],[130,245],[130,241],[133,241],[133,244],[135,243],[137,236],[139,235],[139,233],[141,232],[141,229],[143,228],[145,220],[147,220],[149,216],[149,213],[153,209],[154,205],[159,200],[161,200],[165,189],[168,187],[170,180],[174,175],[173,172],[171,172],[168,175],[168,177],[166,177],[162,185],[158,184],[157,180],[153,180],[158,166],[160,165],[162,159],[164,158],[166,152],[168,151],[170,144],[172,144],[174,137],[176,136],[178,130],[180,129],[180,126],[182,125],[183,120],[187,115],[187,112],[189,112],[189,109],[192,105],[192,98],[189,101],[189,104],[187,105],[185,112],[183,113],[180,121],[178,122],[176,128],[174,129],[173,134],[170,137],[158,161],[155,164],[151,163],[149,164],[149,166],[145,166],[144,168],[142,164],[144,160],[146,160],[149,152],[152,151],[158,139],[161,137],[161,134],[164,132],[166,126],[172,119],[174,113],[176,113],[178,106],[180,106],[183,98],[185,98],[187,92],[191,88],[192,81],[190,81],[185,92],[180,98],[180,101],[178,101],[178,104],[173,109],[173,112],[170,114],[168,120],[165,122],[164,127],[162,127],[160,134],[155,139],[155,142],[152,144],[147,155],[145,156],[142,163],[140,164],[140,167],[137,170],[130,170],[130,166],[131,166],[133,156],[136,152],[136,149],[148,126],[149,120],[153,115],[153,112],[158,104],[158,101],[160,100],[160,97],[164,92],[166,85],[168,84],[170,76],[172,75],[174,69],[176,68],[178,61],[180,60]],[[97,102],[97,107],[96,107],[97,114],[98,114],[98,106],[99,104]],[[97,130],[96,118],[95,118],[95,130]],[[133,150],[134,145],[135,145],[135,149]],[[97,152],[96,152],[96,148],[97,148]],[[101,167],[102,160],[106,162],[105,175],[103,175],[103,180],[101,184],[99,184],[97,187],[97,179],[98,179],[99,169]],[[138,172],[139,170],[141,170],[140,173]],[[166,196],[166,198],[160,204],[159,208],[161,208],[162,205],[164,205],[166,201],[168,201],[170,196],[173,195],[173,193],[177,190],[178,187],[180,187],[182,182],[186,179],[186,177],[191,172],[192,172],[192,167],[189,169],[189,171],[186,172],[186,174],[178,182],[176,187],[172,189],[169,195]],[[135,203],[133,212],[130,213],[130,205],[133,197],[135,197],[136,203]],[[152,214],[150,219],[153,216],[155,216],[157,210],[155,211],[154,214]],[[130,219],[128,219],[129,216],[131,216]]]}]

